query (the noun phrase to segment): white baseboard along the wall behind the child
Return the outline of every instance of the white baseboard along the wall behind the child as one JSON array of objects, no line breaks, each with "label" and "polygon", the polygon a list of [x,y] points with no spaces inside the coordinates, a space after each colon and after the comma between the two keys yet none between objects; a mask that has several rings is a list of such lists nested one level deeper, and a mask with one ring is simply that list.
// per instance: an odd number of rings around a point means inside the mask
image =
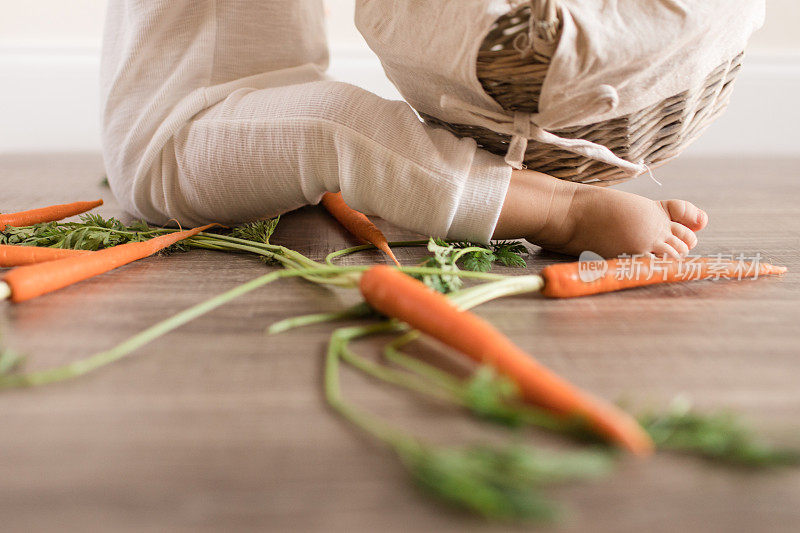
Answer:
[{"label": "white baseboard along the wall behind the child", "polygon": [[[335,78],[399,98],[366,49],[332,55]],[[99,150],[98,56],[92,49],[0,49],[0,152]],[[798,95],[800,56],[752,55],[728,112],[686,156],[800,156]]]}]

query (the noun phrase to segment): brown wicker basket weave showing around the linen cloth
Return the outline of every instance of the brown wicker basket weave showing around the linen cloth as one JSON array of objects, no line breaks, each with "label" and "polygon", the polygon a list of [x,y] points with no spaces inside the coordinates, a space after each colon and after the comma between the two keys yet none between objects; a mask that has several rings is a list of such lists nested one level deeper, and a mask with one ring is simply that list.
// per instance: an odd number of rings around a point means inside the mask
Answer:
[{"label": "brown wicker basket weave showing around the linen cloth", "polygon": [[[477,75],[486,92],[507,111],[538,112],[550,54],[560,36],[557,0],[532,0],[503,16],[487,35],[478,54]],[[533,39],[536,35],[538,38]],[[658,166],[678,156],[728,106],[742,54],[720,65],[702,86],[627,116],[560,131],[560,137],[585,139],[608,147],[631,162]],[[449,124],[422,114],[429,123],[460,137],[472,137],[490,152],[503,155],[510,137],[480,126]],[[608,185],[630,173],[584,156],[531,141],[525,166],[582,183]]]}]

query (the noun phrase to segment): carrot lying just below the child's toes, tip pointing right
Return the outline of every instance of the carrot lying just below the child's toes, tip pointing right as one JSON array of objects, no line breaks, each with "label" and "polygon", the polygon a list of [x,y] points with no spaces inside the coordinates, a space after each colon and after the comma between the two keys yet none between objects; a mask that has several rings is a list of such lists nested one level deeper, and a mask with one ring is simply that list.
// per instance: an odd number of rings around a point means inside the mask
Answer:
[{"label": "carrot lying just below the child's toes, tip pointing right", "polygon": [[563,263],[545,267],[541,275],[545,280],[542,294],[548,298],[573,298],[656,283],[708,278],[742,279],[785,272],[785,267],[767,263],[700,257],[684,261],[630,258],[595,261],[591,265],[588,262]]}]

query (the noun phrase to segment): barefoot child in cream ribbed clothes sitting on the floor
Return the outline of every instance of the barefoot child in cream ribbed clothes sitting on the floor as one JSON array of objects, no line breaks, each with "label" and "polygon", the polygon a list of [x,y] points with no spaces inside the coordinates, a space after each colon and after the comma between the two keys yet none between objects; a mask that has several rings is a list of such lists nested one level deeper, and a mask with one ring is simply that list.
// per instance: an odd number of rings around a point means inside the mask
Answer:
[{"label": "barefoot child in cream ribbed clothes sitting on the floor", "polygon": [[241,223],[342,191],[433,236],[526,238],[606,257],[680,257],[707,215],[689,202],[512,171],[402,101],[328,79],[322,0],[110,0],[103,151],[136,216]]}]

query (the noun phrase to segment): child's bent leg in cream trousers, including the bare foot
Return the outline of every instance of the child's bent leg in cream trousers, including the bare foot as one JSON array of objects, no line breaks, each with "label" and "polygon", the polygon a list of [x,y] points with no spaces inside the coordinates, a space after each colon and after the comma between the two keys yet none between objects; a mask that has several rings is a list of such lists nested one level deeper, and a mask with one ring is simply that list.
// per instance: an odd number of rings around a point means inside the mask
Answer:
[{"label": "child's bent leg in cream trousers, including the bare foot", "polygon": [[341,189],[351,207],[426,235],[483,241],[493,233],[607,257],[686,255],[707,222],[688,202],[537,172],[515,172],[509,185],[502,158],[476,151],[474,141],[425,126],[403,102],[338,82],[237,91],[175,136],[174,161],[175,189],[193,216],[223,222],[283,213]]}]

